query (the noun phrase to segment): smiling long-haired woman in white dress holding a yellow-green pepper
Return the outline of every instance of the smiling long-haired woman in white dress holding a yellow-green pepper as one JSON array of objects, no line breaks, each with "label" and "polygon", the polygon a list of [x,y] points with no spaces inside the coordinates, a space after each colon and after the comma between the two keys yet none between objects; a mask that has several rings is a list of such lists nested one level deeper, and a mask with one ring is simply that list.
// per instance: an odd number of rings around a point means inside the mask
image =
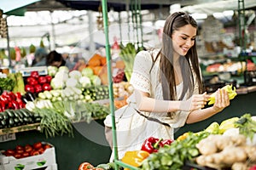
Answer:
[{"label": "smiling long-haired woman in white dress holding a yellow-green pepper", "polygon": [[[162,48],[137,54],[130,81],[134,94],[115,112],[120,158],[127,150],[140,150],[150,136],[173,139],[174,128],[205,120],[230,105],[227,92],[218,89],[215,104],[204,108],[209,96],[203,93],[196,31],[189,14],[174,13],[166,19]],[[105,126],[108,134],[110,116]]]}]

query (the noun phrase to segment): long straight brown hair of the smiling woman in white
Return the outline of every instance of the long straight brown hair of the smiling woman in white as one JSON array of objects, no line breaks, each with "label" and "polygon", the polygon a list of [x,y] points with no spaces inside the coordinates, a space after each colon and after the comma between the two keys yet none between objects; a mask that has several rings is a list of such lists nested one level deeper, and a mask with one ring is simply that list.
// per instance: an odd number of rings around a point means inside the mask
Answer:
[{"label": "long straight brown hair of the smiling woman in white", "polygon": [[[162,48],[157,58],[160,57],[160,82],[163,88],[164,99],[183,99],[184,95],[189,92],[188,98],[192,96],[195,87],[194,77],[191,70],[195,72],[195,81],[199,86],[199,93],[202,93],[202,82],[200,65],[196,52],[196,44],[189,48],[188,53],[184,57],[179,57],[180,65],[183,65],[182,78],[183,78],[183,92],[180,97],[177,97],[176,81],[173,67],[173,47],[172,47],[172,33],[177,31],[180,27],[191,25],[197,28],[196,21],[189,15],[183,12],[177,12],[169,15],[163,29]],[[191,63],[190,63],[191,62]]]}]

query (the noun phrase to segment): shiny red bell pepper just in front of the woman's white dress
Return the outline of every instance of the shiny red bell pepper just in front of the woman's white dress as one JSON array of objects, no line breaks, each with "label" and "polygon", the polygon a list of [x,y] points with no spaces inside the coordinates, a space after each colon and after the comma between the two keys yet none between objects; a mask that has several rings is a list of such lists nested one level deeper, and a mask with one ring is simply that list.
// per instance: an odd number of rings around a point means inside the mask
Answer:
[{"label": "shiny red bell pepper just in front of the woman's white dress", "polygon": [[146,139],[142,145],[141,150],[148,151],[148,153],[157,152],[160,147],[164,147],[165,145],[172,144],[172,139],[157,139],[154,137],[149,137]]}]

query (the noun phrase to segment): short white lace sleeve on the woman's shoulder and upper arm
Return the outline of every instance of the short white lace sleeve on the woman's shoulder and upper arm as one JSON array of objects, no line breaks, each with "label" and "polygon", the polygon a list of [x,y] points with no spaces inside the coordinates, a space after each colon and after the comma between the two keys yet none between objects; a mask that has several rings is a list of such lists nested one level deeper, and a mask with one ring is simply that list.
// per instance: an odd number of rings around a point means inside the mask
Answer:
[{"label": "short white lace sleeve on the woman's shoulder and upper arm", "polygon": [[151,65],[151,55],[147,51],[141,51],[136,55],[130,80],[133,88],[151,94],[151,82],[149,75]]}]

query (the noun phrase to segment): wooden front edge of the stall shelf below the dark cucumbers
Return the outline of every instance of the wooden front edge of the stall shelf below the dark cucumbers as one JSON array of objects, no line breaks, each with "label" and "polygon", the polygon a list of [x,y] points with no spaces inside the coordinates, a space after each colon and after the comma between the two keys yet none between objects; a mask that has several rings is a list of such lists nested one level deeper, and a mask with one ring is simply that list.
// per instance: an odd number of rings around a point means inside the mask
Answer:
[{"label": "wooden front edge of the stall shelf below the dark cucumbers", "polygon": [[20,133],[24,131],[30,130],[40,130],[40,123],[32,123],[27,125],[22,125],[19,127],[9,127],[0,129],[0,134],[8,134],[8,133]]}]

